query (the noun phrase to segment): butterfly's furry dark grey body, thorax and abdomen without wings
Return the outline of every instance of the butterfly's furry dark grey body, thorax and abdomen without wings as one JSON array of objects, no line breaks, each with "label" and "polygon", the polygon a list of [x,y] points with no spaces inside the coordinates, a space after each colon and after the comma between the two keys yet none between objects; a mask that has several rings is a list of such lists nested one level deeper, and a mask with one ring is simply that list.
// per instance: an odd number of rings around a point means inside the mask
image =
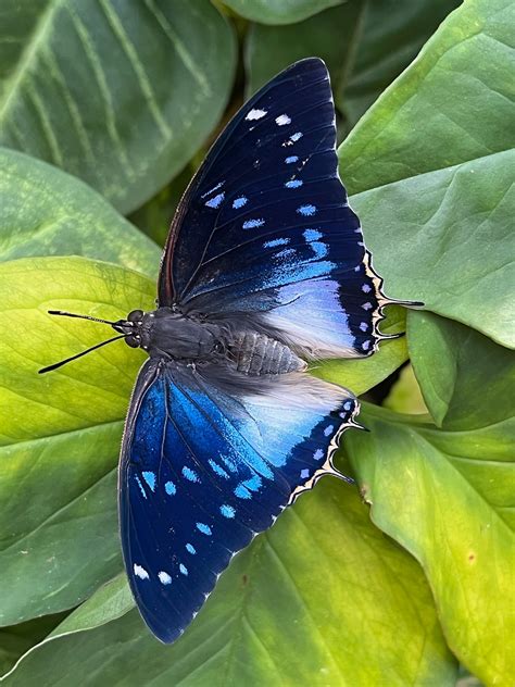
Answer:
[{"label": "butterfly's furry dark grey body, thorax and abdomen without wings", "polygon": [[306,364],[287,345],[238,322],[210,322],[159,308],[133,317],[129,345],[151,358],[209,362],[249,376],[275,376],[304,370]]}]

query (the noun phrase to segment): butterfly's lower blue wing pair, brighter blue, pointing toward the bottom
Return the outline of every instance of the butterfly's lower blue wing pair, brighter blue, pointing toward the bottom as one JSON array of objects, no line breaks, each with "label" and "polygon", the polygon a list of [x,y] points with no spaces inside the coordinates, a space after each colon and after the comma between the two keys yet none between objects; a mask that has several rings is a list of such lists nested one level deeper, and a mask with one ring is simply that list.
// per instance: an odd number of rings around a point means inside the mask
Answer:
[{"label": "butterfly's lower blue wing pair, brighter blue, pointing toward the bottom", "polygon": [[301,373],[234,394],[150,360],[120,467],[122,544],[138,608],[163,641],[191,622],[218,574],[325,473],[357,402]]}]

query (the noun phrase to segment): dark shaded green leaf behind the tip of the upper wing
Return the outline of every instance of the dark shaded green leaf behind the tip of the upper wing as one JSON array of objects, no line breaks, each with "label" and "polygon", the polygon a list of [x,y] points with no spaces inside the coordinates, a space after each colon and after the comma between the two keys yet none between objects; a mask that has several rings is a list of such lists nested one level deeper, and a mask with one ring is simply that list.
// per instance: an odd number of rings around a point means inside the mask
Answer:
[{"label": "dark shaded green leaf behind the tip of the upper wing", "polygon": [[254,24],[246,43],[247,92],[296,60],[317,55],[329,67],[335,101],[349,129],[457,4],[351,0],[291,26]]}]

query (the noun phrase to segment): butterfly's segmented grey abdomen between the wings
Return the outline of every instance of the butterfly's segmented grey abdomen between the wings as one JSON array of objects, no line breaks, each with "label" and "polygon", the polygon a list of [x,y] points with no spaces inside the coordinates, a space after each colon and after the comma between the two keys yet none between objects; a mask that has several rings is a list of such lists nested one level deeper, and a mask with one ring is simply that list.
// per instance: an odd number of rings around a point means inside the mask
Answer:
[{"label": "butterfly's segmented grey abdomen between the wings", "polygon": [[280,375],[306,367],[288,346],[256,332],[239,334],[228,349],[238,372],[251,376]]}]

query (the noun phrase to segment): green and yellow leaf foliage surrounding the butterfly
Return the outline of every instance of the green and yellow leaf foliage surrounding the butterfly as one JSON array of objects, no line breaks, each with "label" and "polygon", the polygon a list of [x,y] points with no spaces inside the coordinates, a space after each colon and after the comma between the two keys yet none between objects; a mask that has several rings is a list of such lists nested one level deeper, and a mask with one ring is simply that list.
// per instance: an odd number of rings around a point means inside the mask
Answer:
[{"label": "green and yellow leaf foliage surrounding the butterfly", "polygon": [[[513,25],[512,0],[3,0],[5,685],[514,684]],[[372,433],[340,452],[361,496],[323,480],[163,647],[116,524],[142,358],[121,342],[39,377],[101,336],[46,311],[151,308],[209,142],[313,54],[375,266],[426,309],[391,309],[407,336],[373,359],[314,371],[364,395]]]}]

